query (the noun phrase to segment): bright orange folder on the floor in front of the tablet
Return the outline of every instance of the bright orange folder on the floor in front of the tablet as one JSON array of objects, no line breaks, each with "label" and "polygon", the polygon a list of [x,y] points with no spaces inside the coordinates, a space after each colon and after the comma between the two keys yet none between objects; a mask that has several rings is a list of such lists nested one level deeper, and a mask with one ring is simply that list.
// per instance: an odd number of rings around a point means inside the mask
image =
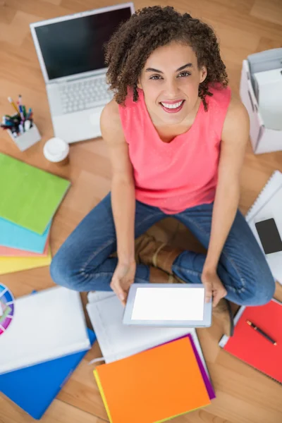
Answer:
[{"label": "bright orange folder on the floor in front of the tablet", "polygon": [[210,404],[190,339],[94,370],[111,423],[155,423]]}]

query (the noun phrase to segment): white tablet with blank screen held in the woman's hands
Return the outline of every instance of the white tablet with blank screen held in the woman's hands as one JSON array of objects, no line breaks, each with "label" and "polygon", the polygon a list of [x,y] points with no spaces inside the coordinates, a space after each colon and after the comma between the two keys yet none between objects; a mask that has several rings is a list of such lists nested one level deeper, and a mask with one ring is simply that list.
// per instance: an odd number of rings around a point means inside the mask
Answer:
[{"label": "white tablet with blank screen held in the woman's hands", "polygon": [[204,302],[202,283],[133,283],[123,324],[207,327],[212,324],[212,300]]}]

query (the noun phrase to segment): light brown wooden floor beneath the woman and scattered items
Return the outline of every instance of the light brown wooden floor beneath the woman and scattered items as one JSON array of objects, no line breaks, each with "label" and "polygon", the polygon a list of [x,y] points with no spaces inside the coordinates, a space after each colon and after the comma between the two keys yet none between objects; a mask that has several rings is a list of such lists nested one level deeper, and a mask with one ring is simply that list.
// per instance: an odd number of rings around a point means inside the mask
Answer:
[{"label": "light brown wooden floor beneath the woman and scattered items", "polygon": [[[116,0],[109,4],[118,3]],[[16,99],[20,93],[27,107],[32,106],[42,141],[27,152],[20,153],[8,135],[0,133],[0,151],[29,164],[69,178],[73,183],[51,228],[51,250],[56,252],[63,240],[99,200],[109,192],[111,169],[103,140],[80,142],[71,146],[71,163],[59,168],[44,160],[44,142],[53,136],[47,94],[42,73],[30,35],[29,23],[69,13],[106,6],[98,0],[0,0],[0,114],[11,112],[7,97]],[[166,1],[135,1],[135,7],[162,4]],[[174,0],[181,12],[189,12],[214,26],[221,40],[231,88],[238,92],[240,69],[248,54],[282,47],[281,0]],[[242,174],[240,209],[247,211],[257,193],[274,169],[282,171],[282,152],[254,156],[250,146]],[[153,231],[166,229],[176,244],[186,245],[188,234],[182,226],[168,219]],[[49,269],[34,269],[1,276],[16,297],[33,289],[53,286]],[[276,297],[282,300],[282,287]],[[85,300],[85,295],[82,295]],[[88,321],[88,324],[89,321]],[[219,324],[198,331],[207,360],[216,400],[204,410],[173,419],[175,423],[281,423],[282,387],[243,362],[221,351]],[[1,351],[0,351],[1,354]],[[64,386],[42,418],[44,423],[102,423],[106,411],[95,384],[92,367],[87,362],[100,355],[97,343]],[[44,383],[44,381],[42,382]],[[10,400],[0,396],[0,423],[30,423]],[[123,423],[123,422],[119,422]],[[133,422],[134,423],[134,422]]]}]

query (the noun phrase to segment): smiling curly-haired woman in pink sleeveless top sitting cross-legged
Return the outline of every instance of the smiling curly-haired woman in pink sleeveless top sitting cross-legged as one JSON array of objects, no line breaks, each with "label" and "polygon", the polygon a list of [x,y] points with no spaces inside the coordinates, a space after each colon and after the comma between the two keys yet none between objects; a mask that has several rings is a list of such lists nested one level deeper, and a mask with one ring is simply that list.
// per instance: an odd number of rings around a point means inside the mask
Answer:
[{"label": "smiling curly-haired woman in pink sleeveless top sitting cross-legged", "polygon": [[[115,92],[101,117],[111,193],[55,255],[54,281],[112,289],[123,304],[134,281],[202,282],[214,306],[269,302],[274,278],[238,210],[249,119],[231,96],[212,28],[172,7],[143,8],[111,38],[106,63]],[[135,238],[168,215],[207,255],[150,239],[137,245],[136,264]]]}]

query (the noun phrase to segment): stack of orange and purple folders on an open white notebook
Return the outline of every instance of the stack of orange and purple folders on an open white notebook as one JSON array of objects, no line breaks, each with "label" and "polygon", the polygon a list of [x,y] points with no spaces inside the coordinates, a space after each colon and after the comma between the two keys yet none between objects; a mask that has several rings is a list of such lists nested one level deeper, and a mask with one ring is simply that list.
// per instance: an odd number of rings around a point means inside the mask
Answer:
[{"label": "stack of orange and purple folders on an open white notebook", "polygon": [[94,376],[110,422],[160,422],[215,398],[195,329],[123,325],[124,307],[112,292],[90,293],[88,301],[106,362]]}]

